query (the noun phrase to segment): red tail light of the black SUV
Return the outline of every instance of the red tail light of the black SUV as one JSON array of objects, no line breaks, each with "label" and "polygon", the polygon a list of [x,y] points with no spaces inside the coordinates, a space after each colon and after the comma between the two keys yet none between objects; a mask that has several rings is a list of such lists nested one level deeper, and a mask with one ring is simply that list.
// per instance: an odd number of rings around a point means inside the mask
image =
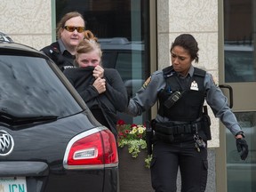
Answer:
[{"label": "red tail light of the black SUV", "polygon": [[113,133],[105,127],[80,133],[69,141],[63,164],[66,169],[117,166],[118,155]]}]

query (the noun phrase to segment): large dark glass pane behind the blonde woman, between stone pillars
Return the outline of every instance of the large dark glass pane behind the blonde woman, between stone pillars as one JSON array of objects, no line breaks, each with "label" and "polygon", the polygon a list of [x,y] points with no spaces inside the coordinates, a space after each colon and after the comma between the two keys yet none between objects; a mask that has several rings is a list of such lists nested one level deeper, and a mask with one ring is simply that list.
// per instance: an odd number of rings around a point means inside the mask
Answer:
[{"label": "large dark glass pane behind the blonde woman, between stone pillars", "polygon": [[[99,38],[105,68],[116,68],[129,96],[135,95],[149,74],[149,0],[55,0],[56,22],[67,12],[84,15],[86,29]],[[126,82],[126,83],[125,83]],[[141,124],[143,116],[120,118],[126,123]]]}]

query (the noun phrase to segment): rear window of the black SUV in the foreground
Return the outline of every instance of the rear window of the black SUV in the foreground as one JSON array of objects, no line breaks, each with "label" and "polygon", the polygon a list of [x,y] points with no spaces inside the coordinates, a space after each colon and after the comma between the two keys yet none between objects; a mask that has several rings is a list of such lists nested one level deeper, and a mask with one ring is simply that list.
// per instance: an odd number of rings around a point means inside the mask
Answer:
[{"label": "rear window of the black SUV in the foreground", "polygon": [[82,110],[43,58],[1,55],[0,68],[0,112],[64,117]]}]

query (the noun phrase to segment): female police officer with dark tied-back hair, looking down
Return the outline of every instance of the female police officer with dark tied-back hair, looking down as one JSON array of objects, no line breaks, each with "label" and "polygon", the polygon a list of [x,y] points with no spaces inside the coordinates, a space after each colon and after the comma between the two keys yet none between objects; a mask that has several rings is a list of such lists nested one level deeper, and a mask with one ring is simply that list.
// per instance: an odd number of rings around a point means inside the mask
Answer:
[{"label": "female police officer with dark tied-back hair, looking down", "polygon": [[192,65],[192,61],[198,62],[198,50],[193,36],[176,37],[171,47],[172,66],[153,73],[130,100],[126,111],[140,116],[159,100],[156,119],[151,122],[155,130],[151,180],[156,192],[177,190],[179,167],[182,192],[205,190],[207,140],[211,140],[211,134],[209,118],[203,113],[204,100],[236,137],[241,158],[248,155],[244,132],[228,108],[227,98],[210,74]]}]

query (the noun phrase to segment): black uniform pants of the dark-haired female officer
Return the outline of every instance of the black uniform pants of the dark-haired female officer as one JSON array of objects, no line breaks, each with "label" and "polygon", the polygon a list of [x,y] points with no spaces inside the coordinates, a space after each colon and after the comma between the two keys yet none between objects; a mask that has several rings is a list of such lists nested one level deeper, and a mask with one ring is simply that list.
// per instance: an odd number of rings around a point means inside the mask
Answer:
[{"label": "black uniform pants of the dark-haired female officer", "polygon": [[[207,148],[195,147],[191,140],[174,143],[156,141],[151,162],[152,187],[156,192],[176,192],[177,174],[180,167],[181,192],[204,192],[207,182]],[[188,139],[188,138],[187,138]]]}]

